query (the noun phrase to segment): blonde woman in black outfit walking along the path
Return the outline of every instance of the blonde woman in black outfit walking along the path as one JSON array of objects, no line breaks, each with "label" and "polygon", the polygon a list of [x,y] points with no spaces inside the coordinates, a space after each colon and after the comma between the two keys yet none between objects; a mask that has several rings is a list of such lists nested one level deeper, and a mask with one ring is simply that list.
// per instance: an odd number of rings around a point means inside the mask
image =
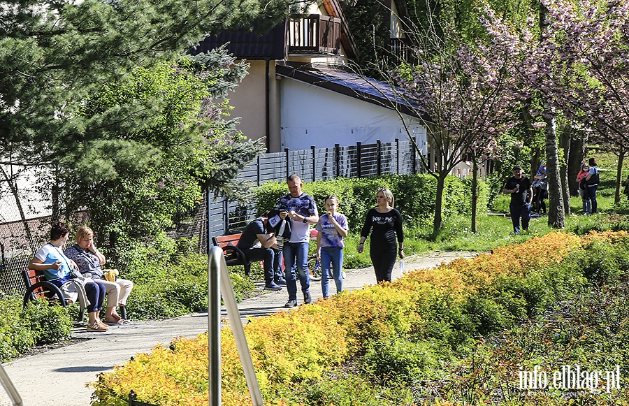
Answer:
[{"label": "blonde woman in black outfit walking along the path", "polygon": [[[396,253],[404,258],[404,232],[402,215],[393,208],[393,194],[389,189],[379,189],[376,194],[377,207],[367,212],[365,225],[361,231],[359,254],[371,231],[369,255],[373,263],[377,282],[391,282],[391,273],[396,263]],[[400,244],[398,250],[397,242]]]}]

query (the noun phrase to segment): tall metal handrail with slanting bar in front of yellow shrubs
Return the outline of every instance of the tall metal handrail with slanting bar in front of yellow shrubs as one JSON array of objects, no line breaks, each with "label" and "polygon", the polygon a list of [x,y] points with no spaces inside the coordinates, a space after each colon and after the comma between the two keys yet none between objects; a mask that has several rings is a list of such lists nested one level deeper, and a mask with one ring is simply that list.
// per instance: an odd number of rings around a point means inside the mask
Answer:
[{"label": "tall metal handrail with slanting bar in front of yellow shrubs", "polygon": [[221,405],[221,294],[227,309],[227,317],[231,325],[240,363],[243,365],[247,387],[253,406],[263,406],[262,393],[256,377],[243,321],[240,319],[236,296],[233,294],[231,279],[225,263],[223,250],[212,247],[208,260],[208,357],[210,406]]}]

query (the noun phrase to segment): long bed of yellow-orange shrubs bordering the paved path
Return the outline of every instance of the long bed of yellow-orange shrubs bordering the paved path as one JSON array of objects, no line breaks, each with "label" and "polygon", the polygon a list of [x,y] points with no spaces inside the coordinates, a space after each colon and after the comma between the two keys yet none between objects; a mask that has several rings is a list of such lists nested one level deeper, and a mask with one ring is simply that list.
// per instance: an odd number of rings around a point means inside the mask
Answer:
[{"label": "long bed of yellow-orange shrubs bordering the paved path", "polygon": [[[626,233],[625,233],[626,234]],[[525,275],[560,263],[571,249],[591,238],[622,238],[593,233],[579,238],[551,233],[490,254],[460,259],[435,269],[414,270],[391,284],[343,292],[330,300],[250,320],[248,344],[267,405],[287,405],[282,391],[290,382],[319,378],[361,351],[367,342],[405,334],[421,320],[418,307],[444,292],[463,299],[500,275]],[[208,337],[178,338],[171,348],[155,347],[101,375],[93,384],[93,405],[126,405],[133,389],[138,400],[162,406],[207,405]],[[229,328],[222,331],[222,400],[250,405],[238,351]]]}]

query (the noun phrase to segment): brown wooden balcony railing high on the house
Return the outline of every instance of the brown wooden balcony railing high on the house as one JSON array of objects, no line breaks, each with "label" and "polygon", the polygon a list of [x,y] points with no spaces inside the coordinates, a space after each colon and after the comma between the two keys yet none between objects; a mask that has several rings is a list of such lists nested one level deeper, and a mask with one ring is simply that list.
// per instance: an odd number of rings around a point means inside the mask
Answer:
[{"label": "brown wooden balcony railing high on the house", "polygon": [[287,24],[288,52],[338,55],[340,36],[339,18],[320,14],[290,17]]}]

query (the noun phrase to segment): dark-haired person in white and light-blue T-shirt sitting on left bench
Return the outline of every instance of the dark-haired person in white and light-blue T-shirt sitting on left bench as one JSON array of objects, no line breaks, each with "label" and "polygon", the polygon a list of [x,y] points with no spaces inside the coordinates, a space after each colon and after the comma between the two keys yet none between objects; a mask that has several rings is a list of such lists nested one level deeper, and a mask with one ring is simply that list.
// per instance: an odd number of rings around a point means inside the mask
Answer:
[{"label": "dark-haired person in white and light-blue T-shirt sitting on left bench", "polygon": [[[62,247],[68,242],[69,235],[70,227],[67,224],[61,222],[52,224],[50,242],[41,247],[29,262],[29,269],[41,270],[46,280],[57,287],[62,287],[73,278],[72,269],[78,270],[76,263],[62,252]],[[99,312],[103,310],[105,287],[99,282],[87,281],[85,294],[89,300],[87,331],[108,331],[108,326],[99,319]]]}]

